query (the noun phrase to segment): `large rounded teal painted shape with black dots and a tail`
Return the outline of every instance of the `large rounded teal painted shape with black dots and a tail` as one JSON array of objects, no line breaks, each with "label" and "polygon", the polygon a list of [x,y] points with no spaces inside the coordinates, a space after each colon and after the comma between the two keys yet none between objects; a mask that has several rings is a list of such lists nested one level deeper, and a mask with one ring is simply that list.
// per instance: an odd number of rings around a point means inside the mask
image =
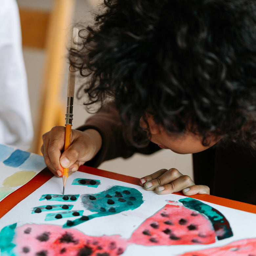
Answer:
[{"label": "large rounded teal painted shape with black dots and a tail", "polygon": [[97,213],[68,221],[63,227],[73,227],[97,217],[134,210],[143,203],[142,194],[137,189],[123,186],[113,186],[97,194],[84,194],[81,200],[86,209]]}]

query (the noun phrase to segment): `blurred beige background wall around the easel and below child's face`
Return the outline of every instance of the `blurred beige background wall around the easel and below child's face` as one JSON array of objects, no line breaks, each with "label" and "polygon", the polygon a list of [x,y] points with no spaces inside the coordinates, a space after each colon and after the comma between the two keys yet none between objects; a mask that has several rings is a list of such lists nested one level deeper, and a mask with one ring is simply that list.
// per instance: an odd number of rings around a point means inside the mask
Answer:
[{"label": "blurred beige background wall around the easel and below child's face", "polygon": [[[97,0],[95,0],[97,1]],[[75,8],[75,20],[85,21],[90,20],[91,12],[95,5],[94,0],[86,1],[86,0],[76,0],[76,8]],[[35,0],[17,0],[19,6],[22,7],[30,7],[30,8],[39,8],[44,10],[51,9],[52,0],[43,0],[43,1],[35,1]],[[32,110],[32,118],[33,125],[36,128],[38,122],[38,99],[40,97],[40,84],[41,84],[41,74],[44,64],[44,51],[41,50],[31,50],[24,49],[24,59],[25,65],[28,75],[28,85],[29,85],[29,95],[30,95],[30,103]],[[63,71],[64,83],[63,83],[63,93],[62,97],[64,102],[66,102],[65,94],[67,91],[67,74],[68,74],[68,65],[66,70]],[[78,102],[75,100],[74,102],[74,120],[73,127],[77,127],[84,123],[86,117],[89,116],[88,113],[84,110],[82,102]],[[65,118],[65,117],[63,117]],[[187,174],[192,177],[192,157],[191,155],[179,155],[173,153],[170,150],[160,150],[150,156],[142,156],[140,154],[136,154],[132,158],[128,160],[124,160],[118,158],[116,160],[106,161],[99,166],[100,169],[113,171],[129,176],[134,176],[141,178],[147,174],[151,174],[162,168],[177,168],[181,173]]]}]

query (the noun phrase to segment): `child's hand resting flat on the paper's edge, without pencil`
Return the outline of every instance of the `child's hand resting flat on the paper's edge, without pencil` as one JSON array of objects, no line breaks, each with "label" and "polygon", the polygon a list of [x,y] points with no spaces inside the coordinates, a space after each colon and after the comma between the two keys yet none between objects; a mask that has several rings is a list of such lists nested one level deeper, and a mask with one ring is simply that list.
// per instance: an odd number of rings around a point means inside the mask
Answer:
[{"label": "child's hand resting flat on the paper's edge, without pencil", "polygon": [[181,174],[177,169],[161,169],[139,180],[141,186],[148,191],[155,190],[159,195],[180,192],[185,196],[195,194],[210,194],[210,189],[205,185],[195,185],[187,175]]}]

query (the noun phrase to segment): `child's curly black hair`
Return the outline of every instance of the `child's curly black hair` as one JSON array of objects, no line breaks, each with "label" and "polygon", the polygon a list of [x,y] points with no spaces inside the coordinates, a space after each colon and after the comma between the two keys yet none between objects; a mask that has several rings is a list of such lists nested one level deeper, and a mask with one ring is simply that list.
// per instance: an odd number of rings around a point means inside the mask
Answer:
[{"label": "child's curly black hair", "polygon": [[72,65],[85,102],[111,97],[133,143],[140,117],[256,148],[256,1],[104,0]]}]

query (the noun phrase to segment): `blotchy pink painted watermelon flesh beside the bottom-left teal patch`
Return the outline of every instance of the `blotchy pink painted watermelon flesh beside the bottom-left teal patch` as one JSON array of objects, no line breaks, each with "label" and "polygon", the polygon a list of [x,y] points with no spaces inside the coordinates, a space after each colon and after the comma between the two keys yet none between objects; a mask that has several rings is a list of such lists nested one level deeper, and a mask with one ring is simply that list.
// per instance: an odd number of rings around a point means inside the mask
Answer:
[{"label": "blotchy pink painted watermelon flesh beside the bottom-left teal patch", "polygon": [[26,256],[117,256],[127,241],[119,235],[91,237],[70,228],[25,224],[17,228],[16,250]]}]

